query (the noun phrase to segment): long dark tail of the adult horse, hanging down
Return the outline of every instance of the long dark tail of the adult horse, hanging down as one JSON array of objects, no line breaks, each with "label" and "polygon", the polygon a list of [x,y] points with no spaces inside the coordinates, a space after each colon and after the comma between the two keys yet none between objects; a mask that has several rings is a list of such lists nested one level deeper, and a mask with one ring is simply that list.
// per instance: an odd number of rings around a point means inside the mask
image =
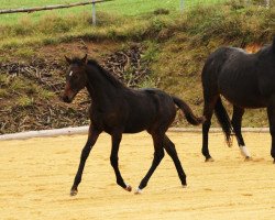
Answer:
[{"label": "long dark tail of the adult horse, hanging down", "polygon": [[222,128],[222,131],[226,135],[226,141],[229,146],[232,145],[232,135],[234,133],[233,127],[231,124],[230,118],[227,113],[226,108],[223,107],[221,102],[221,98],[219,97],[218,101],[215,106],[215,114]]}]

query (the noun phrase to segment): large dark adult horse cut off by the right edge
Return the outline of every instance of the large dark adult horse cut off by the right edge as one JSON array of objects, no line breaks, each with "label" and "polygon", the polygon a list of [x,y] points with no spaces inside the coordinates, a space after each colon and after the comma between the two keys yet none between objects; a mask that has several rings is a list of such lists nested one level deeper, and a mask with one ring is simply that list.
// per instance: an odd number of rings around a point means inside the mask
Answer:
[{"label": "large dark adult horse cut off by the right edge", "polygon": [[[275,163],[275,37],[273,44],[255,54],[241,48],[220,47],[208,57],[201,75],[206,121],[202,125],[202,154],[212,161],[208,150],[208,132],[215,111],[230,145],[234,133],[240,150],[246,158],[242,133],[242,116],[245,108],[267,108],[272,135],[271,155]],[[221,102],[220,95],[233,105],[232,121]]]}]

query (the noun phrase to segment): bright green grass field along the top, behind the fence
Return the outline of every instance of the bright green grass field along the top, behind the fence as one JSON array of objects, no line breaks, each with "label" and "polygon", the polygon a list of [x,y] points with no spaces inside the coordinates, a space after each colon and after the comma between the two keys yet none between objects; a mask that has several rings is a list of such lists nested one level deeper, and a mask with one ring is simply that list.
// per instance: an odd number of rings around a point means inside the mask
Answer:
[{"label": "bright green grass field along the top, behind the fence", "polygon": [[[73,2],[81,2],[82,0],[2,0],[0,9],[16,9],[16,8],[32,8],[42,6],[54,6]],[[197,4],[222,2],[224,0],[184,0],[185,9],[188,9]],[[180,0],[114,0],[111,2],[97,4],[97,11],[114,13],[120,15],[141,15],[147,12],[152,12],[156,9],[163,8],[170,11],[179,11]],[[91,6],[76,7],[70,9],[61,9],[54,11],[34,12],[31,14],[16,13],[16,14],[2,14],[0,15],[0,23],[12,24],[16,23],[21,19],[38,20],[43,15],[55,14],[55,15],[67,15],[72,13],[90,13]]]}]

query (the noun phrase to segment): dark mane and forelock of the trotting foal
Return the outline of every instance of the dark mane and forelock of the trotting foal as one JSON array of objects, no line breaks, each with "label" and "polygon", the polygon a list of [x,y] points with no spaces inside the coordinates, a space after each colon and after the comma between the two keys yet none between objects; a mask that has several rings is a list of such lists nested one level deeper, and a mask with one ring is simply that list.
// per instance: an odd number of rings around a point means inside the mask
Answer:
[{"label": "dark mane and forelock of the trotting foal", "polygon": [[[72,63],[77,64],[77,65],[82,65],[82,61],[76,57],[72,59]],[[100,74],[107,80],[109,80],[116,88],[125,87],[116,76],[113,76],[108,70],[106,70],[102,66],[100,66],[97,61],[88,59],[87,65],[96,67],[100,72]]]}]

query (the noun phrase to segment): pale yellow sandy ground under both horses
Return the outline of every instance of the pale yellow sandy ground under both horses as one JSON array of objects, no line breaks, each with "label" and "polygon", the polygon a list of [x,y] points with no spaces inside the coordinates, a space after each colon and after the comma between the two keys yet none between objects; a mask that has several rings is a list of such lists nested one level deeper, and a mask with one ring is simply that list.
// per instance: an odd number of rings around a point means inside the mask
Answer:
[{"label": "pale yellow sandy ground under both horses", "polygon": [[[168,133],[188,177],[182,188],[166,154],[142,195],[117,186],[109,163],[110,136],[101,134],[87,160],[76,197],[69,189],[86,135],[0,142],[0,219],[275,219],[275,165],[265,133],[245,133],[253,161],[237,143],[210,134],[216,160],[205,163],[200,133]],[[153,157],[146,133],[123,135],[120,169],[135,188]]]}]

